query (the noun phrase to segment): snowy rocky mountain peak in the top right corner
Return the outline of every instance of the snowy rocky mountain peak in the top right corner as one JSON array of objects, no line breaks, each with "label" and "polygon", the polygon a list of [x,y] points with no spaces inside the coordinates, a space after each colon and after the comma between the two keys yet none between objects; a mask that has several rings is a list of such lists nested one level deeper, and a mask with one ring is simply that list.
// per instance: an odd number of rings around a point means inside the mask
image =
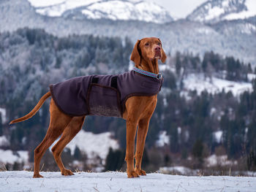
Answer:
[{"label": "snowy rocky mountain peak in the top right corner", "polygon": [[255,0],[210,0],[197,7],[187,19],[217,23],[220,20],[245,19],[255,15]]}]

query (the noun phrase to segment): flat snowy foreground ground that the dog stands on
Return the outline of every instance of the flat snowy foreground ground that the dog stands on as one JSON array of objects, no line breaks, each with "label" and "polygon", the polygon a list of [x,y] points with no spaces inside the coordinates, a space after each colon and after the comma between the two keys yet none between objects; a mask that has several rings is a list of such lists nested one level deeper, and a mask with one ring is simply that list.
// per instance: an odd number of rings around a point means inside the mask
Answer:
[{"label": "flat snowy foreground ground that the dog stands on", "polygon": [[77,172],[62,176],[60,172],[42,172],[44,178],[33,179],[33,172],[0,172],[0,191],[255,191],[256,177],[187,177],[151,173],[127,178],[123,172]]}]

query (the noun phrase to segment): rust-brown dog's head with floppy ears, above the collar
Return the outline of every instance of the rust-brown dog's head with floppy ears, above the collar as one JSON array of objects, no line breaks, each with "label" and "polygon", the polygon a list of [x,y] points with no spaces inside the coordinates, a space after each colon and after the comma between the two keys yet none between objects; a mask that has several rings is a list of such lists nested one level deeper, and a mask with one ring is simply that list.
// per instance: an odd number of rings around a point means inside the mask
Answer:
[{"label": "rust-brown dog's head with floppy ears, above the collar", "polygon": [[161,59],[162,63],[165,62],[166,55],[159,38],[148,37],[136,42],[132,50],[131,60],[135,62],[135,66],[139,66],[142,58],[146,61]]}]

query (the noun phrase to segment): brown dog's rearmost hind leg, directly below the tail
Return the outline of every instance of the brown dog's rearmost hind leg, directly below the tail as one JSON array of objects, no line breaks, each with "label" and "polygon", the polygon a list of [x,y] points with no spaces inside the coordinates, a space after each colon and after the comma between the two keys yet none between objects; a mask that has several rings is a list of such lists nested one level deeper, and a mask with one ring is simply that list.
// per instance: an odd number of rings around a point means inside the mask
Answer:
[{"label": "brown dog's rearmost hind leg, directly below the tail", "polygon": [[34,177],[42,177],[39,174],[39,165],[45,151],[62,134],[64,128],[69,124],[72,117],[65,115],[59,110],[53,99],[50,101],[50,125],[45,138],[34,150]]}]

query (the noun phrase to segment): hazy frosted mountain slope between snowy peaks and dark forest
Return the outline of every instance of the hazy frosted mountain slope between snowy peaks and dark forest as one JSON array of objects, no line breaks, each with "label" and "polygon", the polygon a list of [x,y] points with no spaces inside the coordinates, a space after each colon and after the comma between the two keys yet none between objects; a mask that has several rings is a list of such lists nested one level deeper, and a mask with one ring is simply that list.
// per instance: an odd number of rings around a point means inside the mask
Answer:
[{"label": "hazy frosted mountain slope between snowy peaks and dark forest", "polygon": [[[128,37],[132,42],[143,37],[159,37],[165,43],[167,53],[175,54],[178,50],[181,53],[189,51],[202,56],[206,51],[213,50],[222,55],[236,55],[241,61],[256,64],[256,25],[253,18],[236,20],[236,22],[225,20],[211,26],[190,20],[176,20],[165,24],[140,20],[78,20],[64,16],[40,15],[37,11],[41,8],[49,8],[52,6],[51,2],[43,1],[45,4],[42,4],[42,1],[30,1],[31,3],[27,0],[0,1],[0,32],[29,27],[44,28],[48,33],[58,37],[69,34],[94,34],[122,39]],[[70,4],[73,2],[75,7],[75,2],[79,1],[67,2]],[[96,4],[95,1],[92,2]],[[105,2],[110,3],[110,1]],[[129,2],[132,4],[134,1]],[[56,6],[56,0],[52,3]],[[34,7],[31,7],[31,4]],[[72,10],[75,12],[77,9]]]}]

